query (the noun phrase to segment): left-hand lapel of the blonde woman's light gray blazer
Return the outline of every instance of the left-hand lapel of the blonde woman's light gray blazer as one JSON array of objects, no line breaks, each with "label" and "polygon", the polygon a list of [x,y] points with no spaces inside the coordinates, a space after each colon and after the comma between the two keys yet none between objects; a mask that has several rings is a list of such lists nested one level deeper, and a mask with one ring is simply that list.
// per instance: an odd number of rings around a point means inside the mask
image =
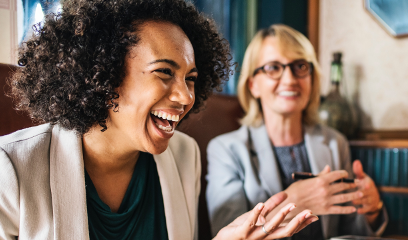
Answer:
[{"label": "left-hand lapel of the blonde woman's light gray blazer", "polygon": [[252,157],[253,164],[258,168],[260,181],[262,187],[268,192],[270,196],[282,191],[282,181],[279,173],[279,166],[275,159],[272,150],[272,144],[266,132],[265,125],[258,128],[249,127],[250,136],[248,138],[252,141],[250,151],[255,154]]}]

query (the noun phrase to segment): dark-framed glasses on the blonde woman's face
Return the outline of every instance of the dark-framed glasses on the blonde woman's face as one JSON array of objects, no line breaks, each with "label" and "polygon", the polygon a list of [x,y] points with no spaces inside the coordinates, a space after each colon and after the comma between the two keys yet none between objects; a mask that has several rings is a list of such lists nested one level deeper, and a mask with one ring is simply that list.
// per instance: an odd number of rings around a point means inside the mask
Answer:
[{"label": "dark-framed glasses on the blonde woman's face", "polygon": [[268,77],[274,80],[279,80],[282,77],[283,72],[285,71],[285,68],[287,66],[289,66],[290,70],[292,71],[292,74],[296,78],[304,78],[310,75],[313,71],[313,63],[301,59],[295,60],[288,64],[282,64],[280,62],[268,62],[262,67],[255,69],[254,74],[252,76],[258,74],[259,71],[262,71]]}]

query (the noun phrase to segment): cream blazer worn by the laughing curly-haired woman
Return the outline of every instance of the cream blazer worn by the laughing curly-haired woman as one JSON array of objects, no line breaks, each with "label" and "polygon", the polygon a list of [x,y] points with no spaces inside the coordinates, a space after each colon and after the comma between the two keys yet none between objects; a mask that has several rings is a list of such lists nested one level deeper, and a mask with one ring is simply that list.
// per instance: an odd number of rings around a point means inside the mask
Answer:
[{"label": "cream blazer worn by the laughing curly-haired woman", "polygon": [[[89,239],[82,139],[44,124],[0,137],[0,239]],[[170,240],[197,238],[197,143],[175,132],[154,155]]]}]

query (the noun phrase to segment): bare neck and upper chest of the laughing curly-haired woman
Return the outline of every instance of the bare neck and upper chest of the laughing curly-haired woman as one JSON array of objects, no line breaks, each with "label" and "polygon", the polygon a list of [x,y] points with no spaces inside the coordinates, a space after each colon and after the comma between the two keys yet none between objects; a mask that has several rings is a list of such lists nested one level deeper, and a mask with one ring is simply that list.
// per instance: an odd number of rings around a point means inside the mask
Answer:
[{"label": "bare neck and upper chest of the laughing curly-haired woman", "polygon": [[109,129],[101,132],[100,128],[83,135],[84,165],[90,175],[133,173],[140,151],[126,148],[126,144],[111,135]]}]

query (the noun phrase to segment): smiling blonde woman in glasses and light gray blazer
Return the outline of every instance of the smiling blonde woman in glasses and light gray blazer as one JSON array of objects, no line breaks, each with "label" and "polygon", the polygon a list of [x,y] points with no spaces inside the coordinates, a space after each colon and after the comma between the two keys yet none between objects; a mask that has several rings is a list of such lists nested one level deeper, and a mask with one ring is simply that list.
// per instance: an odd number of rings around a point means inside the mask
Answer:
[{"label": "smiling blonde woman in glasses and light gray blazer", "polygon": [[[319,76],[313,46],[296,30],[272,25],[251,41],[238,84],[242,127],[207,149],[214,233],[280,191],[288,194],[282,204],[297,205],[291,214],[307,208],[321,215],[292,239],[383,232],[387,215],[373,181],[359,161],[351,166],[344,136],[317,123]],[[319,176],[294,182],[293,172]],[[333,183],[353,172],[355,183]]]}]

